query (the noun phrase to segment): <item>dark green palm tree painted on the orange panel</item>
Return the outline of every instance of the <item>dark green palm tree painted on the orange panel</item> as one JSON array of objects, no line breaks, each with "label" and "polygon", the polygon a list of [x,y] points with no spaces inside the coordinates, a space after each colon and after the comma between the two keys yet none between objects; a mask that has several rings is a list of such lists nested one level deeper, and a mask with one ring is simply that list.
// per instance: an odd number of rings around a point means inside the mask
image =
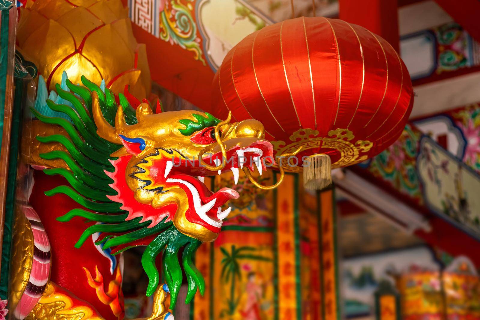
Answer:
[{"label": "dark green palm tree painted on the orange panel", "polygon": [[257,249],[254,247],[239,247],[231,246],[230,252],[227,249],[220,247],[223,254],[221,279],[224,282],[230,282],[230,298],[227,298],[227,309],[222,310],[221,314],[227,313],[232,317],[240,302],[240,297],[235,297],[236,280],[240,280],[240,263],[239,260],[255,260],[255,261],[272,261],[270,258],[254,254]]}]

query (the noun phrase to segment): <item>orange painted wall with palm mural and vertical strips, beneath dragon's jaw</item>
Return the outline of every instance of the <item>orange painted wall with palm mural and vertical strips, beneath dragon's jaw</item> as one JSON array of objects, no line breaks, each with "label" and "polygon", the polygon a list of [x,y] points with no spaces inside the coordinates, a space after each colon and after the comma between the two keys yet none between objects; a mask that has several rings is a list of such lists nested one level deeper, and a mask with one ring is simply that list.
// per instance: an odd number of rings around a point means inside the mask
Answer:
[{"label": "orange painted wall with palm mural and vertical strips, beneath dragon's jaw", "polygon": [[[265,185],[277,178],[255,175]],[[212,189],[229,179],[214,178]],[[304,192],[297,174],[270,191],[240,175],[235,188],[244,199],[230,201],[221,234],[197,251],[208,285],[191,319],[338,320],[334,191]]]}]

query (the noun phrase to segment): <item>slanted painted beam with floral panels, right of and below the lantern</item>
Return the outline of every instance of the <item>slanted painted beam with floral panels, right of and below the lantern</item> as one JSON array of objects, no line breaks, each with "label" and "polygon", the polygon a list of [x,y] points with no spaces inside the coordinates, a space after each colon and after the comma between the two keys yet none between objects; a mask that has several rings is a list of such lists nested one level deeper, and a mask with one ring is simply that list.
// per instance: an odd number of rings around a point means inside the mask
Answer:
[{"label": "slanted painted beam with floral panels, right of and below the lantern", "polygon": [[473,191],[480,190],[479,145],[475,104],[408,124],[394,144],[359,167],[420,210],[480,237],[480,198]]}]

